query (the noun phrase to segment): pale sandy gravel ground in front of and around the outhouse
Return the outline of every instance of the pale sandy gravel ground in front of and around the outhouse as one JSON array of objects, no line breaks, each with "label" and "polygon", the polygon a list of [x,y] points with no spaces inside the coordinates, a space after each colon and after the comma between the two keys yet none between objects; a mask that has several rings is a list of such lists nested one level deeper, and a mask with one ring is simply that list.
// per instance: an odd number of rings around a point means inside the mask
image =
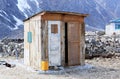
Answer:
[{"label": "pale sandy gravel ground in front of and around the outhouse", "polygon": [[[95,58],[86,60],[89,68],[74,67],[64,73],[39,74],[31,68],[24,66],[21,59],[4,59],[16,64],[14,68],[0,66],[0,79],[120,79],[120,58]],[[77,69],[78,68],[78,69]]]}]

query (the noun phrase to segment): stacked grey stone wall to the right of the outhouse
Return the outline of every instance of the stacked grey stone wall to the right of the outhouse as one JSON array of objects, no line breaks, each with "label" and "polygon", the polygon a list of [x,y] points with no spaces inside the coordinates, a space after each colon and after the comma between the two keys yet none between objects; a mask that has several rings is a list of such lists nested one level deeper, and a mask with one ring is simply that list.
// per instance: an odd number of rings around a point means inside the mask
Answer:
[{"label": "stacked grey stone wall to the right of the outhouse", "polygon": [[[86,37],[87,38],[87,37]],[[104,39],[104,40],[103,40]],[[115,53],[120,53],[120,41],[112,40],[113,37],[100,37],[99,39],[87,38],[85,42],[86,58],[113,57]]]}]

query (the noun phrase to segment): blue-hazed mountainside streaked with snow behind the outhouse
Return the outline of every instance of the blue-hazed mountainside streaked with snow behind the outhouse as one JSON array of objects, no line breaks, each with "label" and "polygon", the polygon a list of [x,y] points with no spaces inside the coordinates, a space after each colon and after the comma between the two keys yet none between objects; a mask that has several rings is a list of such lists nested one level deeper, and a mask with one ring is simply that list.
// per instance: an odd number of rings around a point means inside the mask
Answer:
[{"label": "blue-hazed mountainside streaked with snow behind the outhouse", "polygon": [[120,18],[120,0],[0,0],[0,38],[23,36],[25,18],[42,10],[86,13],[87,29],[104,29]]}]

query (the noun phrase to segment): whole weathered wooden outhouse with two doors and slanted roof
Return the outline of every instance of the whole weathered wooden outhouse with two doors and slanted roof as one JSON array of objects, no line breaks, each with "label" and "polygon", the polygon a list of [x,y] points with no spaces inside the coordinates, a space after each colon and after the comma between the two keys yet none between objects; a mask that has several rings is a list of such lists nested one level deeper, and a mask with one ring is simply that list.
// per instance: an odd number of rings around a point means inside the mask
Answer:
[{"label": "whole weathered wooden outhouse with two doors and slanted roof", "polygon": [[49,66],[84,65],[87,14],[43,11],[24,20],[24,63],[40,69]]}]

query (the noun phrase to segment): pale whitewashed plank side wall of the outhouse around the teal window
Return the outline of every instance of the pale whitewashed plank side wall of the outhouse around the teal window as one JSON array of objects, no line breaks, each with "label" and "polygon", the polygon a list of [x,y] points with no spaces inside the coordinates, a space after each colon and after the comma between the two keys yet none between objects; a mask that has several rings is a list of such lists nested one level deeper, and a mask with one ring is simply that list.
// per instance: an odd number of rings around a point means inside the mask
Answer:
[{"label": "pale whitewashed plank side wall of the outhouse around the teal window", "polygon": [[[26,22],[25,22],[26,24]],[[26,30],[29,27],[29,30]],[[28,43],[27,42],[27,32],[32,32],[32,43]],[[26,53],[26,50],[28,50],[28,57],[27,54],[25,54],[24,56],[24,60],[27,62],[25,62],[26,65],[30,65],[31,67],[35,68],[35,69],[40,69],[41,67],[41,16],[35,16],[33,18],[31,18],[29,20],[29,24],[25,25],[25,51],[24,53]],[[29,48],[27,49],[26,46],[29,45]],[[27,64],[28,63],[28,64]]]}]

